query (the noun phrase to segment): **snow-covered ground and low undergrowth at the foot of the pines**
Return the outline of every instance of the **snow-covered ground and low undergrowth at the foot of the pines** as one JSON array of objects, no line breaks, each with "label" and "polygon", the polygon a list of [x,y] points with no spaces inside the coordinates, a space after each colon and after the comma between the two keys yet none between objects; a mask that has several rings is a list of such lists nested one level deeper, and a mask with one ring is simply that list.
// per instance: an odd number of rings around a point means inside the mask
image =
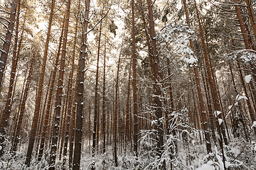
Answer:
[{"label": "snow-covered ground and low undergrowth at the foot of the pines", "polygon": [[[85,142],[82,152],[80,169],[91,169],[92,165],[95,169],[159,169],[159,164],[166,162],[166,169],[171,169],[170,153],[168,149],[163,154],[161,159],[156,159],[156,155],[151,149],[139,150],[139,157],[133,156],[131,149],[127,147],[127,154],[119,153],[118,165],[114,166],[112,156],[112,147],[109,145],[105,154],[100,152],[92,158],[91,148],[86,146]],[[214,142],[212,142],[214,143]],[[149,143],[148,143],[149,144]],[[189,170],[218,170],[224,169],[223,159],[220,149],[212,146],[213,153],[206,154],[204,142],[190,140],[188,145],[184,142],[177,142],[178,151],[172,159],[173,169],[189,169]],[[26,149],[21,150],[15,157],[6,154],[5,162],[0,162],[0,169],[28,170],[23,164],[26,159]],[[48,152],[47,152],[48,153]],[[229,145],[225,146],[225,168],[228,170],[238,169],[256,169],[256,142],[250,140],[246,142],[242,137],[231,138]],[[43,156],[41,162],[33,159],[30,169],[48,169],[48,154]],[[68,169],[68,164],[63,166],[63,159],[57,157],[55,169]]]}]

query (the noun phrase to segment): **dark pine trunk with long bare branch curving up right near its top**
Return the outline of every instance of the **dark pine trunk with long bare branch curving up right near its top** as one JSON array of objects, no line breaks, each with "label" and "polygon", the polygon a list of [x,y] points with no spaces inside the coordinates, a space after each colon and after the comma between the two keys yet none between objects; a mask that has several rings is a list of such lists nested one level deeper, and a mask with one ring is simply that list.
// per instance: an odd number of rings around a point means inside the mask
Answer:
[{"label": "dark pine trunk with long bare branch curving up right near its top", "polygon": [[85,58],[87,58],[87,26],[89,21],[90,0],[85,1],[85,22],[83,26],[82,45],[80,47],[79,73],[78,73],[78,106],[76,113],[75,127],[75,149],[73,159],[73,170],[80,169],[81,149],[82,149],[82,106],[83,106],[83,82],[85,76]]}]

